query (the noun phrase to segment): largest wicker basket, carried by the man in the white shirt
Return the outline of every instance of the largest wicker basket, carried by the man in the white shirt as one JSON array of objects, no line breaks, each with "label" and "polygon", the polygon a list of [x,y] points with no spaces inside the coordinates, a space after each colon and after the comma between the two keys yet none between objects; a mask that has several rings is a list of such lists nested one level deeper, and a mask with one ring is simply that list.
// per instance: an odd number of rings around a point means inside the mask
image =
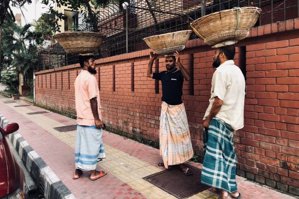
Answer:
[{"label": "largest wicker basket, carried by the man in the white shirt", "polygon": [[221,47],[246,38],[260,14],[258,7],[233,8],[201,17],[190,26],[205,43]]}]

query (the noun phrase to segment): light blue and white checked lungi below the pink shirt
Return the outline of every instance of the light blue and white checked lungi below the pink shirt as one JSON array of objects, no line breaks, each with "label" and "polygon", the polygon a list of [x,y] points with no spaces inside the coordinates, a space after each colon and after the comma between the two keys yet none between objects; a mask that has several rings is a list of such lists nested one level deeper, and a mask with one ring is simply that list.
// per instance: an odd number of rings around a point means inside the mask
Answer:
[{"label": "light blue and white checked lungi below the pink shirt", "polygon": [[96,128],[96,126],[77,125],[76,169],[95,170],[97,162],[106,158],[102,134],[103,130]]}]

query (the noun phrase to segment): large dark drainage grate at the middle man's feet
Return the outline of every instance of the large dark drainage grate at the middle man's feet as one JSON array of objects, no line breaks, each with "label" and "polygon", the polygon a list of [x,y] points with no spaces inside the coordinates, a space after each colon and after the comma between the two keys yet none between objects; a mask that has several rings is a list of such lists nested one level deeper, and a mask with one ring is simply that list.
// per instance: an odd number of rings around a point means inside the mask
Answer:
[{"label": "large dark drainage grate at the middle man's feet", "polygon": [[193,172],[192,176],[186,176],[179,168],[175,168],[161,171],[144,179],[178,199],[185,199],[209,189],[210,186],[200,183],[201,170],[190,165],[188,167]]}]

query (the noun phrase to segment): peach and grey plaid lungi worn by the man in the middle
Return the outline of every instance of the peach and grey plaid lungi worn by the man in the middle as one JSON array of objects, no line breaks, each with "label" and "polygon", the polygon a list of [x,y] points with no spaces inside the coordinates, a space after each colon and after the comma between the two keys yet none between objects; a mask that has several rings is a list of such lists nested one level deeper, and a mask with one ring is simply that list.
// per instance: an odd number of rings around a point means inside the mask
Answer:
[{"label": "peach and grey plaid lungi worn by the man in the middle", "polygon": [[160,117],[160,155],[165,168],[193,158],[187,115],[183,103],[169,105],[163,101]]}]

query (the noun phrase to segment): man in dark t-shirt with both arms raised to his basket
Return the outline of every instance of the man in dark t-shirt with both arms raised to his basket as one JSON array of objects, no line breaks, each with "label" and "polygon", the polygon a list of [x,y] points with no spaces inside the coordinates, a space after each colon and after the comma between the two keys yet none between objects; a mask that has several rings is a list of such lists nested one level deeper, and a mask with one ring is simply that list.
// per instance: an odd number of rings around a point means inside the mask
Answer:
[{"label": "man in dark t-shirt with both arms raised to his basket", "polygon": [[[157,59],[157,54],[150,52],[148,77],[162,82],[162,109],[160,117],[160,155],[163,162],[159,166],[179,165],[186,175],[191,175],[191,170],[183,163],[193,157],[185,106],[182,101],[184,80],[189,80],[188,71],[180,62],[179,53],[176,51],[171,56],[165,57],[166,71],[152,72],[152,64]],[[176,68],[177,66],[178,68]]]}]

